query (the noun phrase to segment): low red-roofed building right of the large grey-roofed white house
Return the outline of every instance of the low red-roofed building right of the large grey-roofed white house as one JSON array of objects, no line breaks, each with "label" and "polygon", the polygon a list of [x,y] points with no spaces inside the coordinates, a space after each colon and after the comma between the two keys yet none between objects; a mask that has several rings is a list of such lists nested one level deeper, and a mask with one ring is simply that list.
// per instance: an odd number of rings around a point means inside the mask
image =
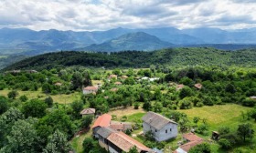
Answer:
[{"label": "low red-roofed building right of the large grey-roofed white house", "polygon": [[187,133],[182,136],[183,140],[187,143],[179,146],[174,153],[187,153],[190,148],[193,148],[204,142],[203,138],[198,137],[194,133]]}]

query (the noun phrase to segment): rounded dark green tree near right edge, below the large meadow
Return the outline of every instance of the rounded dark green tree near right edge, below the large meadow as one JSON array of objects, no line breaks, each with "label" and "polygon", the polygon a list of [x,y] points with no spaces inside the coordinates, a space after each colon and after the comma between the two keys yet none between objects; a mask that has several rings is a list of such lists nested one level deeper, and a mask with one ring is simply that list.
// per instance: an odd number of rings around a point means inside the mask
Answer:
[{"label": "rounded dark green tree near right edge, below the large meadow", "polygon": [[237,133],[245,141],[245,138],[253,138],[254,130],[250,123],[244,123],[239,125]]}]

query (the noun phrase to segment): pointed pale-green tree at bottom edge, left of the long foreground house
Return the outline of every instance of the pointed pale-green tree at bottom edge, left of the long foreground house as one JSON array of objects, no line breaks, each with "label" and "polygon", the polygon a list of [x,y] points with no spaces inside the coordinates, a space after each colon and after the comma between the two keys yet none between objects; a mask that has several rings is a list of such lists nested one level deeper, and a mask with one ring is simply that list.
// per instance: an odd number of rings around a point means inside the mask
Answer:
[{"label": "pointed pale-green tree at bottom edge, left of the long foreground house", "polygon": [[69,141],[65,134],[57,129],[53,135],[49,138],[49,142],[46,148],[43,149],[44,153],[66,153],[70,150]]}]

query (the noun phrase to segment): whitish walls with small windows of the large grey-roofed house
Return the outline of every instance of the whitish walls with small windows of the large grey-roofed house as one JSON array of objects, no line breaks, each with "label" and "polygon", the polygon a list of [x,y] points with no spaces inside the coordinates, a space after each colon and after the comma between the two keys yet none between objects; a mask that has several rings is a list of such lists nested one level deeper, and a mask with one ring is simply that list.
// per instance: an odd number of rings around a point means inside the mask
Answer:
[{"label": "whitish walls with small windows of the large grey-roofed house", "polygon": [[[145,122],[143,123],[143,126],[144,126],[144,133],[151,130],[152,133],[154,134],[154,138],[156,141],[164,141],[170,138],[176,138],[177,136],[177,125],[173,123],[168,123],[167,125],[165,125],[164,128],[156,131],[155,131],[155,128],[151,127],[149,124]],[[170,129],[172,130],[170,131]],[[167,133],[165,132],[166,130],[167,130]]]}]

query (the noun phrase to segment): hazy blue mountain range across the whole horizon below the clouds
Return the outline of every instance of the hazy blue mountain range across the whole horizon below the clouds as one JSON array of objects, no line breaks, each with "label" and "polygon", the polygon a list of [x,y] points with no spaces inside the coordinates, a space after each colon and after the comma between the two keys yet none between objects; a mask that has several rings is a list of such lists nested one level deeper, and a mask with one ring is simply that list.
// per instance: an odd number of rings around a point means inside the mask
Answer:
[{"label": "hazy blue mountain range across the whole horizon below the clouds", "polygon": [[[234,50],[255,47],[256,29],[221,30],[219,28],[193,28],[179,30],[174,27],[107,31],[59,31],[55,29],[33,31],[26,28],[0,29],[1,55],[22,53],[38,55],[60,50],[122,51],[155,50],[178,46],[212,46]],[[223,47],[224,46],[224,47]]]}]

